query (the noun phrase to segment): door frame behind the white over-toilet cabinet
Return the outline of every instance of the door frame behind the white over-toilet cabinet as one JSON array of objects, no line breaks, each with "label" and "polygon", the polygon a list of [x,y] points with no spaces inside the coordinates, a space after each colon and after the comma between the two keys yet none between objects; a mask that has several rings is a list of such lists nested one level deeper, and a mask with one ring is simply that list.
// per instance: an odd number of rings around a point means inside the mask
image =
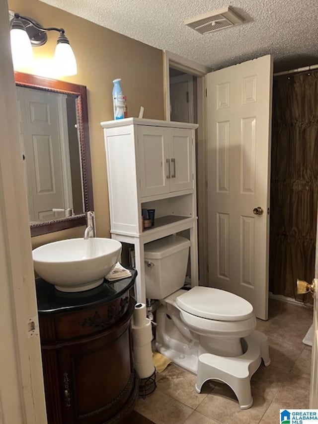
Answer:
[{"label": "door frame behind the white over-toilet cabinet", "polygon": [[208,285],[208,221],[207,221],[207,131],[206,131],[206,81],[205,76],[211,69],[190,59],[163,50],[163,86],[164,86],[164,117],[170,121],[170,80],[169,68],[197,77],[197,116],[199,128],[196,130],[196,160],[197,160],[197,214],[199,284]]}]

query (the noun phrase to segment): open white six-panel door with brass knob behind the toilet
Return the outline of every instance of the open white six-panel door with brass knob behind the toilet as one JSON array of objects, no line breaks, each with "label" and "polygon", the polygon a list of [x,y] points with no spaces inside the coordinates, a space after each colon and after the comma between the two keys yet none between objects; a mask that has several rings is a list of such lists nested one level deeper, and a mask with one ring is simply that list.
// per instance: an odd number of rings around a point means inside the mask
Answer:
[{"label": "open white six-panel door with brass knob behind the toilet", "polygon": [[209,285],[265,320],[271,95],[270,56],[207,75]]}]

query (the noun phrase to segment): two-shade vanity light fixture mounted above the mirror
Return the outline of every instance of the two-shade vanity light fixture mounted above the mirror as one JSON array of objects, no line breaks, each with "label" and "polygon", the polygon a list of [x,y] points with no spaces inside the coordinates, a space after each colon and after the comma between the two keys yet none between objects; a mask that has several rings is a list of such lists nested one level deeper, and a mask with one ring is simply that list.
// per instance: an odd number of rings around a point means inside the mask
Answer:
[{"label": "two-shade vanity light fixture mounted above the mirror", "polygon": [[14,70],[30,67],[33,61],[32,46],[43,46],[48,31],[60,33],[54,54],[54,66],[60,76],[77,74],[77,64],[70,42],[63,28],[44,28],[39,22],[27,16],[14,13],[10,22],[11,52]]}]

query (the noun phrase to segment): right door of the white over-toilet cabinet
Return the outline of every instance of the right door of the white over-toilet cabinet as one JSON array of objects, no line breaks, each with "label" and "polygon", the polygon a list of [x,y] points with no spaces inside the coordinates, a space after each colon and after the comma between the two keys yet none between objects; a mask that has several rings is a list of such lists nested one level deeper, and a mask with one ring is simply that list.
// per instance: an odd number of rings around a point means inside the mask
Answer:
[{"label": "right door of the white over-toilet cabinet", "polygon": [[193,188],[192,130],[169,128],[170,191]]}]

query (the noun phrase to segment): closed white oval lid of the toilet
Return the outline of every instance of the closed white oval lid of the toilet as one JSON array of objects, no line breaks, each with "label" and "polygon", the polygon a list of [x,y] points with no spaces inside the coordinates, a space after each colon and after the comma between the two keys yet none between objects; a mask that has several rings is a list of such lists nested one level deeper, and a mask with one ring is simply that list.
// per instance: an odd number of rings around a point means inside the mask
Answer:
[{"label": "closed white oval lid of the toilet", "polygon": [[242,321],[254,315],[247,300],[225,290],[196,286],[176,298],[177,306],[197,317],[217,321]]}]

